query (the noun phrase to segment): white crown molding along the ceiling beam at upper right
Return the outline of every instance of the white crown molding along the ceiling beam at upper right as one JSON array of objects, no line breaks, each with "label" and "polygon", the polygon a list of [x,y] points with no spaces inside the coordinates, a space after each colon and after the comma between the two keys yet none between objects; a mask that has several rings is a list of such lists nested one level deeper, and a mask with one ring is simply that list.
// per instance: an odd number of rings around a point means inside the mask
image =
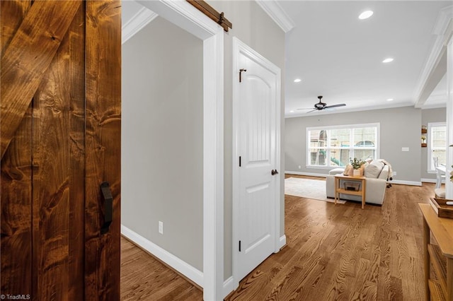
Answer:
[{"label": "white crown molding along the ceiling beam at upper right", "polygon": [[[414,100],[415,107],[423,107],[426,100],[432,91],[426,91],[431,89],[433,83],[429,83],[432,74],[435,73],[439,61],[441,61],[442,55],[445,53],[446,45],[449,38],[453,33],[453,6],[448,6],[443,8],[439,15],[437,16],[437,21],[435,23],[432,34],[436,35],[436,40],[434,45],[431,48],[430,55],[428,60],[425,63],[422,73],[418,78],[418,83],[415,86]],[[436,76],[437,78],[438,76]],[[435,85],[434,85],[435,86]],[[429,93],[427,93],[429,92]]]}]

